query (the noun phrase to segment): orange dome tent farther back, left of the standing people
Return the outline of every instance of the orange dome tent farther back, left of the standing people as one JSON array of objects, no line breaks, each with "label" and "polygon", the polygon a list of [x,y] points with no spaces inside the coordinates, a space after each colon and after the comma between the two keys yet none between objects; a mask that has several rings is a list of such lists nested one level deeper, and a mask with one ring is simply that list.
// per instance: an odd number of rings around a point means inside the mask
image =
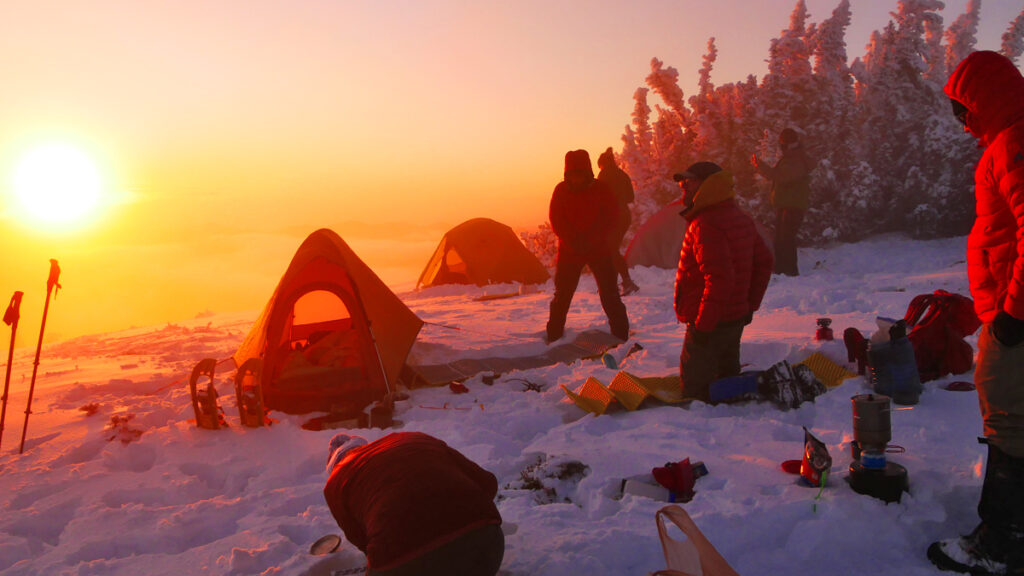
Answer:
[{"label": "orange dome tent farther back, left of the standing people", "polygon": [[473,218],[445,234],[417,286],[439,284],[542,284],[551,278],[511,228],[489,218]]}]

